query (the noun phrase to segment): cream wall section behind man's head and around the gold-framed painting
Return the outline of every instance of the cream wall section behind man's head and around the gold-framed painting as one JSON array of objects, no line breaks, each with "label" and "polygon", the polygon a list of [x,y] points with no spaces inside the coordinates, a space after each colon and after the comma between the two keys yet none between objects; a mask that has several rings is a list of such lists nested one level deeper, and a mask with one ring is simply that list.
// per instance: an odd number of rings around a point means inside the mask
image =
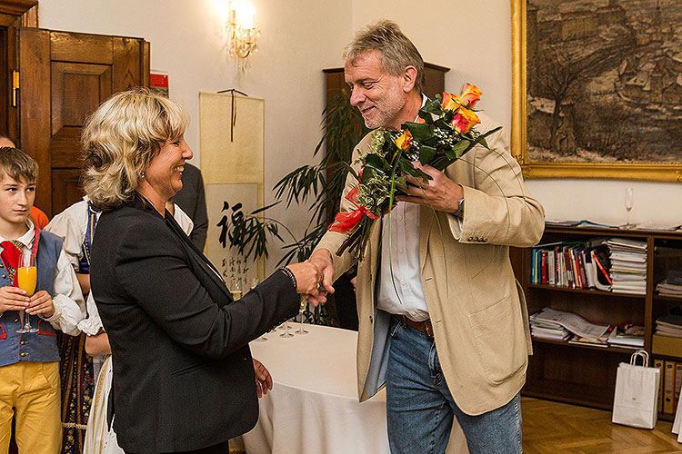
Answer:
[{"label": "cream wall section behind man's head and around the gold-framed painting", "polygon": [[[484,92],[478,106],[511,126],[511,5],[509,0],[353,0],[353,30],[378,19],[396,21],[424,60],[451,68],[446,90],[466,82]],[[682,143],[678,144],[682,148]],[[545,205],[547,219],[590,219],[625,223],[624,193],[635,188],[631,222],[682,223],[682,184],[627,180],[528,180]]]}]

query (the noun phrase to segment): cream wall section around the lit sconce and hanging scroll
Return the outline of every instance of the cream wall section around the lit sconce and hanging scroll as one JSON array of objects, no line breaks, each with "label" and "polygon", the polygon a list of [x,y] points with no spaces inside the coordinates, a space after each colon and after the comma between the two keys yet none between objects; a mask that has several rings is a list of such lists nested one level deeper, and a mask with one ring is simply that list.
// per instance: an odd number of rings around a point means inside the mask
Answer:
[{"label": "cream wall section around the lit sconce and hanging scroll", "polygon": [[[239,74],[226,54],[226,0],[41,0],[43,28],[144,37],[151,66],[170,74],[171,98],[183,104],[191,123],[187,143],[199,165],[199,91],[236,88],[266,100],[266,203],[269,190],[286,173],[310,163],[321,136],[325,106],[323,68],[341,66],[350,28],[349,0],[254,0],[261,27],[259,50]],[[273,217],[301,232],[296,210]],[[272,251],[277,252],[277,251]],[[273,254],[271,267],[279,259]]]}]

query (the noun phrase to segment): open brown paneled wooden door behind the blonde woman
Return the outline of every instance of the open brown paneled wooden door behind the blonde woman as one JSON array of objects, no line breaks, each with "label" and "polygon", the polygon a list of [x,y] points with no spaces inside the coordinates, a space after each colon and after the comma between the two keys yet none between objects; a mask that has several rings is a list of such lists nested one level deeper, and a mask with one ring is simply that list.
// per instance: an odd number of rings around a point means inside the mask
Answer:
[{"label": "open brown paneled wooden door behind the blonde woman", "polygon": [[20,142],[40,165],[35,205],[49,216],[82,197],[85,119],[116,92],[149,85],[142,38],[19,28]]}]

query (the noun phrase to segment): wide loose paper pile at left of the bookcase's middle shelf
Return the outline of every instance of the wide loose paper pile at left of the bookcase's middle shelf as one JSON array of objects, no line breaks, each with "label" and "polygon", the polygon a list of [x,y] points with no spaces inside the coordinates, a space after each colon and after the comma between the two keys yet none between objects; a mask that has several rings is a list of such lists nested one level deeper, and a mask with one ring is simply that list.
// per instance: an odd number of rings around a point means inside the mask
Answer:
[{"label": "wide loose paper pile at left of the bookcase's middle shelf", "polygon": [[607,324],[590,323],[574,313],[551,308],[530,316],[530,332],[541,339],[566,341],[573,333],[582,338],[597,340],[608,328]]}]

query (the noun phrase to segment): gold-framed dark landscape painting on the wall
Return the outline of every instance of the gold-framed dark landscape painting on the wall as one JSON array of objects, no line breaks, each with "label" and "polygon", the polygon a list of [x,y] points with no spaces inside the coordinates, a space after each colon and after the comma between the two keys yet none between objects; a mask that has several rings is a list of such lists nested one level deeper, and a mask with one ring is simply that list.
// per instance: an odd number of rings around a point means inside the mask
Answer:
[{"label": "gold-framed dark landscape painting on the wall", "polygon": [[511,0],[528,178],[682,181],[682,2]]}]

